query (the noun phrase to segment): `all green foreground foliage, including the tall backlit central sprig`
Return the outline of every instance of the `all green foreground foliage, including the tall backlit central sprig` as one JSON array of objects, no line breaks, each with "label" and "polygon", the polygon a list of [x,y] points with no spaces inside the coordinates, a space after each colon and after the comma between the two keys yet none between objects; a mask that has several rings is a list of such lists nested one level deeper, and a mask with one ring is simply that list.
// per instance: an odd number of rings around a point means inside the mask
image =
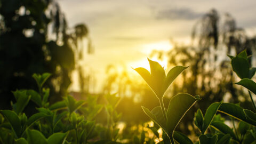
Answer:
[{"label": "all green foreground foliage, including the tall backlit central sprig", "polygon": [[[256,84],[250,78],[255,74],[253,68],[237,69],[247,60],[247,53],[242,51],[231,58],[234,72],[241,78],[236,83],[246,87],[249,92],[256,92]],[[238,59],[237,59],[238,58]],[[242,58],[242,59],[239,59]],[[194,124],[197,127],[196,139],[191,135],[175,131],[182,117],[198,101],[187,93],[175,95],[169,101],[167,109],[163,104],[166,89],[176,77],[187,67],[176,66],[167,76],[159,63],[149,60],[150,72],[143,68],[135,69],[145,79],[151,90],[159,99],[159,105],[151,111],[142,106],[143,111],[154,122],[154,125],[143,127],[140,134],[129,135],[129,140],[123,141],[119,133],[118,122],[121,114],[116,111],[121,101],[116,94],[107,94],[105,110],[107,124],[95,121],[95,116],[103,109],[97,102],[98,97],[88,96],[86,100],[75,100],[70,95],[62,101],[50,104],[49,89],[44,83],[50,74],[33,75],[38,85],[34,90],[17,90],[13,92],[16,102],[12,110],[0,110],[0,142],[1,143],[253,143],[256,141],[256,114],[239,104],[213,102],[205,114],[197,109]],[[249,69],[249,70],[248,70]],[[245,73],[245,71],[247,71]],[[161,79],[159,79],[161,78]],[[153,84],[153,82],[157,82]],[[161,85],[161,87],[158,87]],[[37,106],[37,113],[27,116],[23,110],[29,101]],[[251,101],[254,104],[254,101]],[[231,125],[232,126],[231,126]],[[162,130],[160,132],[159,130]],[[149,136],[150,134],[152,136]]]}]

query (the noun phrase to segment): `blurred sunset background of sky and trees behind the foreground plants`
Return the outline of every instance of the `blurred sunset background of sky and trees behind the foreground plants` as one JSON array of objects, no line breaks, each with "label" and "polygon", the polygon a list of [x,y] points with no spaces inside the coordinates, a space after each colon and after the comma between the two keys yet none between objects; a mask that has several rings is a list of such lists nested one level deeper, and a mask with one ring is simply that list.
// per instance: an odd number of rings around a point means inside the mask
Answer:
[{"label": "blurred sunset background of sky and trees behind the foreground plants", "polygon": [[[132,68],[149,70],[147,58],[166,73],[190,66],[164,97],[167,106],[180,92],[201,96],[177,128],[184,133],[193,132],[195,110],[204,112],[212,102],[252,109],[249,95],[234,85],[227,54],[246,49],[256,65],[255,6],[231,0],[0,0],[0,109],[11,108],[12,91],[37,89],[31,75],[47,72],[51,103],[67,94],[77,100],[98,95],[101,102],[102,95],[116,93],[125,127],[143,124],[149,118],[141,106],[152,109],[158,100]],[[97,121],[104,115],[102,110]]]}]

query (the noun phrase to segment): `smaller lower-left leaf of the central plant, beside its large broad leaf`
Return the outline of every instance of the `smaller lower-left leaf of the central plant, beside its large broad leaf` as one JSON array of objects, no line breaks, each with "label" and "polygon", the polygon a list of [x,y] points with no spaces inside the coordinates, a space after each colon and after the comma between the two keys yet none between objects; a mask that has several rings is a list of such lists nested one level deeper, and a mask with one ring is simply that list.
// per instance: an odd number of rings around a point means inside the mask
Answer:
[{"label": "smaller lower-left leaf of the central plant, beside its large broad leaf", "polygon": [[149,110],[148,108],[145,108],[142,106],[143,111],[151,118],[152,121],[154,121],[156,124],[158,124],[162,129],[167,132],[166,129],[166,122],[164,120],[164,116],[162,113],[162,109],[160,106],[155,107],[153,110]]}]

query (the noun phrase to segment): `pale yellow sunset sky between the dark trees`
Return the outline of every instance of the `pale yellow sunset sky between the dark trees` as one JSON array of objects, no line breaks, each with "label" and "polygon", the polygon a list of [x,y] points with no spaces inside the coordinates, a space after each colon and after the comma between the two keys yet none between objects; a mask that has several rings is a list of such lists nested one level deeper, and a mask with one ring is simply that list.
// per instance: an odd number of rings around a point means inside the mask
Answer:
[{"label": "pale yellow sunset sky between the dark trees", "polygon": [[[69,27],[85,23],[94,54],[85,54],[81,65],[104,79],[108,65],[146,67],[154,49],[168,51],[173,42],[189,44],[195,23],[215,9],[226,12],[247,34],[256,34],[256,1],[238,0],[58,0]],[[221,20],[220,20],[221,21]],[[165,62],[161,62],[165,65]],[[74,76],[76,78],[76,76]],[[98,80],[98,87],[102,82]],[[73,90],[77,84],[73,83]]]}]

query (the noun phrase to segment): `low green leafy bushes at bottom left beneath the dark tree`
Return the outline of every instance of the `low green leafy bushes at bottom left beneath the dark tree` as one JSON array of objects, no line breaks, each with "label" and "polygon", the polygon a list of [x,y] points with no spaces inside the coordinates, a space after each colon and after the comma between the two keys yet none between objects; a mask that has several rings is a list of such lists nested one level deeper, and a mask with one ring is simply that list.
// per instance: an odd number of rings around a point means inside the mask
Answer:
[{"label": "low green leafy bushes at bottom left beneath the dark tree", "polygon": [[[95,99],[89,97],[87,101],[76,101],[68,95],[64,100],[50,105],[49,89],[43,87],[50,74],[34,74],[33,77],[38,84],[39,92],[17,90],[13,92],[17,102],[12,105],[12,110],[0,110],[1,143],[117,143],[116,123],[121,115],[117,115],[115,108],[119,98],[115,95],[106,95],[109,102],[106,109],[109,111],[110,125],[113,128],[109,131],[95,123],[94,117],[103,107],[93,103]],[[37,105],[38,112],[27,117],[23,109],[30,100]],[[86,106],[86,103],[89,105]],[[81,115],[83,113],[90,115],[86,117]],[[102,133],[110,135],[101,138]]]}]

